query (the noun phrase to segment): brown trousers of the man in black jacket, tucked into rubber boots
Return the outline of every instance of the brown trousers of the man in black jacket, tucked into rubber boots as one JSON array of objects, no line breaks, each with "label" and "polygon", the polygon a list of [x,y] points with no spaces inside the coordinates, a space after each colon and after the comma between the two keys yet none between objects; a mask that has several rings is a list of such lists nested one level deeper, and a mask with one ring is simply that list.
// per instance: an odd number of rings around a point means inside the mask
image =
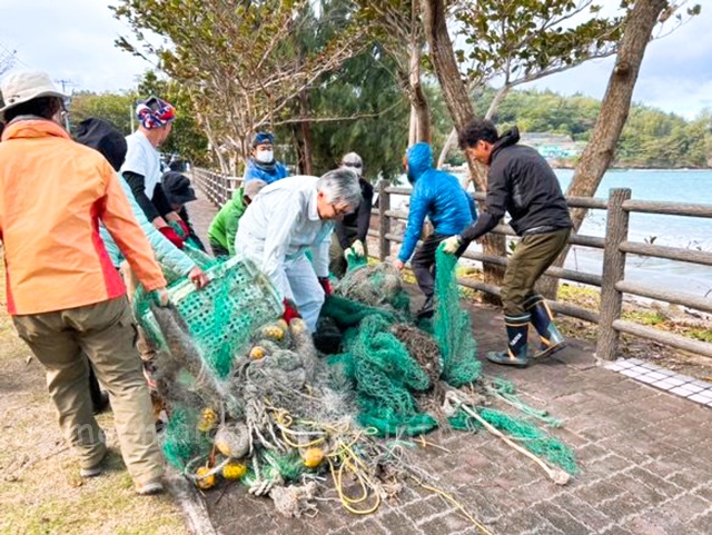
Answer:
[{"label": "brown trousers of the man in black jacket, tucked into rubber boots", "polygon": [[524,301],[534,293],[534,285],[566,246],[570,228],[522,237],[510,257],[502,285],[502,305],[506,316],[526,314]]}]

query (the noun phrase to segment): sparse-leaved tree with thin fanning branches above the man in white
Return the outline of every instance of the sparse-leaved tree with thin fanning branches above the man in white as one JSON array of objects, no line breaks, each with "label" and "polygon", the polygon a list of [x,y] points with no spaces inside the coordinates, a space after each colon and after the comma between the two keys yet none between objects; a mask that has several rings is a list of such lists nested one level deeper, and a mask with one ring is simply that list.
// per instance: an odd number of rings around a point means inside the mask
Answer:
[{"label": "sparse-leaved tree with thin fanning branches above the man in white", "polygon": [[[121,0],[113,10],[138,41],[117,44],[157,57],[189,91],[216,151],[238,159],[247,157],[256,129],[273,128],[295,98],[355,53],[360,34],[342,21],[334,39],[318,39],[319,24],[334,20],[307,0]],[[148,32],[164,44],[152,46]]]}]

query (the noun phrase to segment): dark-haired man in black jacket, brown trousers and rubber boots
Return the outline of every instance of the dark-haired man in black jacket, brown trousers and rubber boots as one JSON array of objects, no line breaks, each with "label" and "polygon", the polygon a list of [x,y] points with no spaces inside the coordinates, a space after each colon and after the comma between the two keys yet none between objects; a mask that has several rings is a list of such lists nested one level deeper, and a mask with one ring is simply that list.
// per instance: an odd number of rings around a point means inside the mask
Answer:
[{"label": "dark-haired man in black jacket, brown trousers and rubber boots", "polygon": [[462,255],[469,242],[497,226],[504,212],[522,237],[510,257],[502,285],[504,320],[507,329],[506,351],[490,353],[487,359],[525,367],[528,324],[542,340],[534,358],[548,356],[564,346],[564,338],[553,323],[551,310],[534,286],[566,246],[571,217],[556,175],[533,148],[517,145],[514,127],[502,137],[488,120],[473,120],[459,133],[459,147],[477,161],[490,166],[485,209],[477,222],[461,236],[445,240],[444,250]]}]

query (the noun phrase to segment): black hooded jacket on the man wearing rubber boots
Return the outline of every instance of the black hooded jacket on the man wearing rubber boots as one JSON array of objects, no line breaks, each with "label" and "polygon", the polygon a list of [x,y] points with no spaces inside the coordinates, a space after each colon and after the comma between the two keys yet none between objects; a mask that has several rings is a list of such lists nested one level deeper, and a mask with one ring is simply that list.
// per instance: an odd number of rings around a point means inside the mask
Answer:
[{"label": "black hooded jacket on the man wearing rubber boots", "polygon": [[572,226],[556,175],[536,149],[517,145],[518,140],[515,127],[494,145],[485,209],[477,222],[463,232],[464,241],[487,234],[505,211],[512,216],[510,225],[518,236]]}]

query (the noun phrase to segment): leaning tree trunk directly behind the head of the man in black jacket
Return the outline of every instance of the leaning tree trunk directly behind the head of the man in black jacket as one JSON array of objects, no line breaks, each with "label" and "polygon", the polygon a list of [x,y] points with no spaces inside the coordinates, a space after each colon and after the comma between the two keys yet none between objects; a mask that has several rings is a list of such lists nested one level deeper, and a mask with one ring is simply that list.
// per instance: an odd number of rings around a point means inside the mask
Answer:
[{"label": "leaning tree trunk directly behind the head of the man in black jacket", "polygon": [[[422,0],[421,7],[425,37],[431,47],[431,59],[435,67],[435,73],[441,83],[453,125],[457,131],[461,131],[467,122],[475,118],[475,109],[457,69],[453,43],[447,33],[445,6],[443,0]],[[469,157],[467,157],[467,165],[476,189],[486,191],[487,179],[483,166]],[[505,242],[504,236],[488,234],[484,238],[483,249],[488,255],[505,256]],[[504,276],[503,267],[490,264],[483,264],[483,267],[485,281],[501,286]],[[485,300],[494,304],[501,303],[498,297],[487,294],[485,294]]]}]

